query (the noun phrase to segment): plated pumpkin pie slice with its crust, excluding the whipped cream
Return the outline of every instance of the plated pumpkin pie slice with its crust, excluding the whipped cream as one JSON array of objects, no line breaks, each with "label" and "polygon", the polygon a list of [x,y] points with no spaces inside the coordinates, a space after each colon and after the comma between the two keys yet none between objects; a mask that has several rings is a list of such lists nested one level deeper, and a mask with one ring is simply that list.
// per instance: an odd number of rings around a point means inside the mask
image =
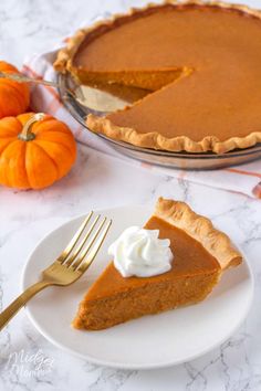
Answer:
[{"label": "plated pumpkin pie slice with its crust, excluding the whipped cream", "polygon": [[170,271],[153,277],[123,277],[111,262],[80,304],[73,326],[100,330],[203,300],[222,272],[241,263],[229,237],[186,203],[160,198],[147,230],[170,240]]}]

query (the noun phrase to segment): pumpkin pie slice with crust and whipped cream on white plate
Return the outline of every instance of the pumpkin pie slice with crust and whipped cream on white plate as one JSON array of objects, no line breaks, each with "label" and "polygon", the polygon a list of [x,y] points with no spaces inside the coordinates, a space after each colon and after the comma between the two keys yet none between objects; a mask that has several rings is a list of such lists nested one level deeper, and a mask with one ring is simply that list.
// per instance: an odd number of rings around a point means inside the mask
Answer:
[{"label": "pumpkin pie slice with crust and whipped cream on white plate", "polygon": [[80,304],[73,326],[100,330],[203,300],[242,262],[229,237],[186,203],[159,198],[144,229],[129,228]]}]

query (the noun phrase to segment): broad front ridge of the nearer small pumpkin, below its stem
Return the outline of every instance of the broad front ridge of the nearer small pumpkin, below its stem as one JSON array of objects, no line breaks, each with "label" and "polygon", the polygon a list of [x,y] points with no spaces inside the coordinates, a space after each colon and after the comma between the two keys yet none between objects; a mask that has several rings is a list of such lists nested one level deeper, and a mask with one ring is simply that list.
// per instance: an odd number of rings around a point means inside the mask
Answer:
[{"label": "broad front ridge of the nearer small pumpkin, below its stem", "polygon": [[58,180],[58,168],[49,155],[35,142],[25,142],[25,169],[32,189],[42,189]]}]

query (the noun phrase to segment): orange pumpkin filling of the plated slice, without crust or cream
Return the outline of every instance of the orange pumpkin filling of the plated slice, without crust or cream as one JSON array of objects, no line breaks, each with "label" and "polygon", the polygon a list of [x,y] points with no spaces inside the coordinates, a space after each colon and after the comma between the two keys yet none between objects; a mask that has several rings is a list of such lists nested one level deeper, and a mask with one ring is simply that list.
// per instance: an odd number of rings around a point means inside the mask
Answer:
[{"label": "orange pumpkin filling of the plated slice, without crust or cream", "polygon": [[182,230],[153,216],[145,225],[170,240],[169,272],[154,277],[124,278],[111,263],[91,287],[73,321],[75,328],[97,330],[148,314],[202,300],[218,283],[217,260]]}]

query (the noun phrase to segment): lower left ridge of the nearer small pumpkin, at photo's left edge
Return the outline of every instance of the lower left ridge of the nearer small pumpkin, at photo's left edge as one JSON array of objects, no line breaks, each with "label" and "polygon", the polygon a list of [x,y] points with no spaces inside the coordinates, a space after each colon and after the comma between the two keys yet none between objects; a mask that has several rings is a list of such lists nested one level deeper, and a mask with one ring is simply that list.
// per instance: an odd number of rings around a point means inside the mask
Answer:
[{"label": "lower left ridge of the nearer small pumpkin, at photo's left edge", "polygon": [[19,189],[28,189],[29,182],[24,167],[25,145],[19,140],[11,142],[2,152],[1,163],[1,183]]}]

